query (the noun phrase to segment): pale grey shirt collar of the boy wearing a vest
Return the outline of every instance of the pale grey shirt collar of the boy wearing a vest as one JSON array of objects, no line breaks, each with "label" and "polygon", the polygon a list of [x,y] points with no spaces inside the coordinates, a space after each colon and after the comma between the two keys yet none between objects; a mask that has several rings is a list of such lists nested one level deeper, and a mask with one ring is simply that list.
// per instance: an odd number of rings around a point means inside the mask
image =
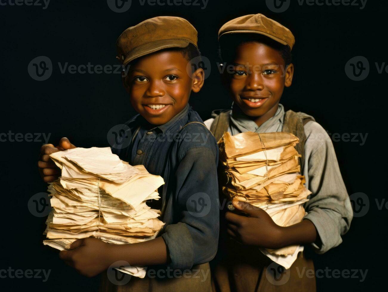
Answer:
[{"label": "pale grey shirt collar of the boy wearing a vest", "polygon": [[275,124],[283,124],[283,118],[284,107],[282,104],[279,104],[275,115],[265,121],[260,127],[257,126],[251,117],[244,114],[236,104],[232,104],[232,113],[230,115],[231,123],[241,132],[265,132],[268,128],[274,126]]}]

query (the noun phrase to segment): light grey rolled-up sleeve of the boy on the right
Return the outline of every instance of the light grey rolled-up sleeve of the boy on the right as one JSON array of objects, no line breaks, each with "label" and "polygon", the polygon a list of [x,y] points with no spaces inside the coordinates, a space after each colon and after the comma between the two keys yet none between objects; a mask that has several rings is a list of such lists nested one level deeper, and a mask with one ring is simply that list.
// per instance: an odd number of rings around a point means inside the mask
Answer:
[{"label": "light grey rolled-up sleeve of the boy on the right", "polygon": [[349,230],[353,210],[329,135],[314,121],[305,125],[305,134],[303,173],[306,187],[312,192],[305,204],[305,219],[317,228],[320,240],[312,246],[318,254],[323,254],[341,244],[341,235]]}]

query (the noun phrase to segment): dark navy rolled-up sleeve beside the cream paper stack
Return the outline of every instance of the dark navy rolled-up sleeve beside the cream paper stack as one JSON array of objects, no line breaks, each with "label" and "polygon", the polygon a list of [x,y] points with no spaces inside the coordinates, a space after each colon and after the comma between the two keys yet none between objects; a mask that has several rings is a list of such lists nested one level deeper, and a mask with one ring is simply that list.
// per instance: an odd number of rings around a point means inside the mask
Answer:
[{"label": "dark navy rolled-up sleeve beside the cream paper stack", "polygon": [[190,269],[207,263],[217,252],[219,202],[217,182],[218,152],[210,147],[194,147],[180,157],[175,171],[174,221],[162,237],[173,269]]}]

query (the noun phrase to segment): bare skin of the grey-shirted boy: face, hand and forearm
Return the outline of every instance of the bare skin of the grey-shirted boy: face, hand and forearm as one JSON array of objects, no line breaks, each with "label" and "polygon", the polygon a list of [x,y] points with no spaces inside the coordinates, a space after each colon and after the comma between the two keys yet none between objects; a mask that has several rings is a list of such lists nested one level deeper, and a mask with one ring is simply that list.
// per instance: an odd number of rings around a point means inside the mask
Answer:
[{"label": "bare skin of the grey-shirted boy: face, hand and forearm", "polygon": [[[289,64],[286,67],[277,50],[258,42],[238,46],[232,64],[233,72],[225,70],[223,80],[235,104],[260,126],[275,115],[284,87],[291,86],[294,66]],[[264,102],[257,106],[246,101],[248,98],[260,98]],[[235,200],[233,206],[240,214],[225,214],[227,232],[242,244],[279,249],[319,240],[317,230],[310,220],[282,227],[276,225],[267,212],[258,207]]]}]

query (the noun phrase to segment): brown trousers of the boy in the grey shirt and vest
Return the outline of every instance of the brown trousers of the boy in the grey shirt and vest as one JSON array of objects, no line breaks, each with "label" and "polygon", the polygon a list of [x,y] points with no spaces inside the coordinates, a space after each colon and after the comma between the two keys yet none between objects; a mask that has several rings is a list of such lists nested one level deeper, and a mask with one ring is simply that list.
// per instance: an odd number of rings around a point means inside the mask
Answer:
[{"label": "brown trousers of the boy in the grey shirt and vest", "polygon": [[211,267],[213,291],[217,292],[316,291],[314,263],[301,252],[291,268],[284,270],[257,247],[228,240]]}]

